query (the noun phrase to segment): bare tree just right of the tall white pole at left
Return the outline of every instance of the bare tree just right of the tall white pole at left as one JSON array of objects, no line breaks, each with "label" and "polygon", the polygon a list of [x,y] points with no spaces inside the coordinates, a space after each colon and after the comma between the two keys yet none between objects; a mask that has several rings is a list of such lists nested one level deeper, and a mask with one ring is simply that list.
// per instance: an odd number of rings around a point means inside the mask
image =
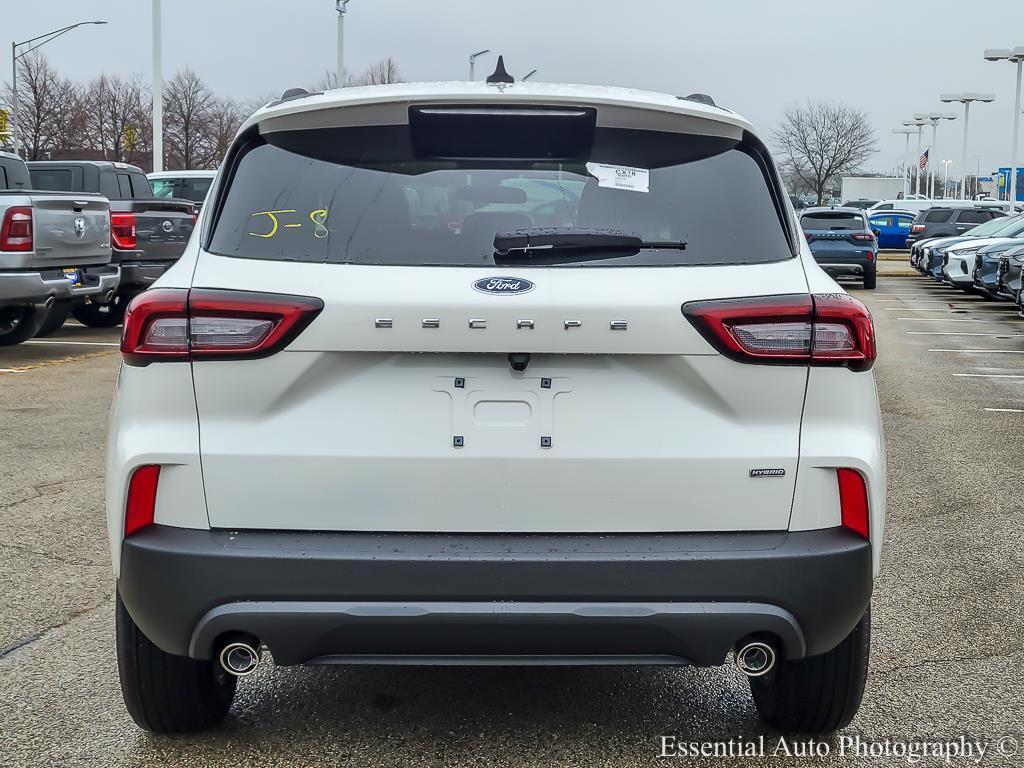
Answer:
[{"label": "bare tree just right of the tall white pole at left", "polygon": [[178,72],[164,90],[164,139],[167,167],[207,167],[214,151],[210,124],[217,98],[190,69]]}]

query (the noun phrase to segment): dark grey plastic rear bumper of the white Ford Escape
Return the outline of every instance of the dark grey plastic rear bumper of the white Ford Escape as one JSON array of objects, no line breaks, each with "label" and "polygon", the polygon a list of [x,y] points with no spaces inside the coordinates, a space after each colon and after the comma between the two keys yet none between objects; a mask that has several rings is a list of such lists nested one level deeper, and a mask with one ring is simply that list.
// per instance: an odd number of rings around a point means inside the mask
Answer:
[{"label": "dark grey plastic rear bumper of the white Ford Escape", "polygon": [[823,653],[871,593],[843,528],[673,535],[194,530],[124,542],[118,590],[170,653],[229,633],[293,664],[722,664],[741,638]]}]

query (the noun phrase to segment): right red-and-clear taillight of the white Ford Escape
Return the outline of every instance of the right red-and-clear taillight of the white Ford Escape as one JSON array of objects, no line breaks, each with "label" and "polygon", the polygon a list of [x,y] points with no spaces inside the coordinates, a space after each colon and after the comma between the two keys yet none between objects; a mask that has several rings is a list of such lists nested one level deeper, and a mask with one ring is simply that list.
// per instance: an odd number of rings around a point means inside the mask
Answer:
[{"label": "right red-and-clear taillight of the white Ford Escape", "polygon": [[740,362],[851,371],[874,364],[870,312],[846,294],[691,301],[683,314],[712,346]]}]

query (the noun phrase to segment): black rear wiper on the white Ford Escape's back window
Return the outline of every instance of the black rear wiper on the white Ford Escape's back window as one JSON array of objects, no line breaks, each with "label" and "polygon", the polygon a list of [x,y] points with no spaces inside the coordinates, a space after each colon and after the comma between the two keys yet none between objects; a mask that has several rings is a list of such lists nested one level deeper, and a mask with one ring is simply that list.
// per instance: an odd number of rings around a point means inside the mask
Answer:
[{"label": "black rear wiper on the white Ford Escape's back window", "polygon": [[[616,258],[622,253],[648,249],[683,251],[686,241],[648,241],[618,229],[513,229],[495,234],[495,257],[501,259],[555,258],[571,252],[573,258]],[[598,253],[605,253],[598,256]],[[593,254],[593,256],[592,256]]]}]

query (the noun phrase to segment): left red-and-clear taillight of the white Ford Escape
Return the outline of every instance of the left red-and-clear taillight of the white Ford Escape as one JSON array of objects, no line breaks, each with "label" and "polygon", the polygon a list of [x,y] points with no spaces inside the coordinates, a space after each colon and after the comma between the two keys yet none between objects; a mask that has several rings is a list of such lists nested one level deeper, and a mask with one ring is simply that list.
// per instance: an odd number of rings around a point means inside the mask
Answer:
[{"label": "left red-and-clear taillight of the white Ford Escape", "polygon": [[130,366],[160,360],[265,357],[290,344],[324,302],[309,296],[164,288],[125,312],[121,353]]}]

